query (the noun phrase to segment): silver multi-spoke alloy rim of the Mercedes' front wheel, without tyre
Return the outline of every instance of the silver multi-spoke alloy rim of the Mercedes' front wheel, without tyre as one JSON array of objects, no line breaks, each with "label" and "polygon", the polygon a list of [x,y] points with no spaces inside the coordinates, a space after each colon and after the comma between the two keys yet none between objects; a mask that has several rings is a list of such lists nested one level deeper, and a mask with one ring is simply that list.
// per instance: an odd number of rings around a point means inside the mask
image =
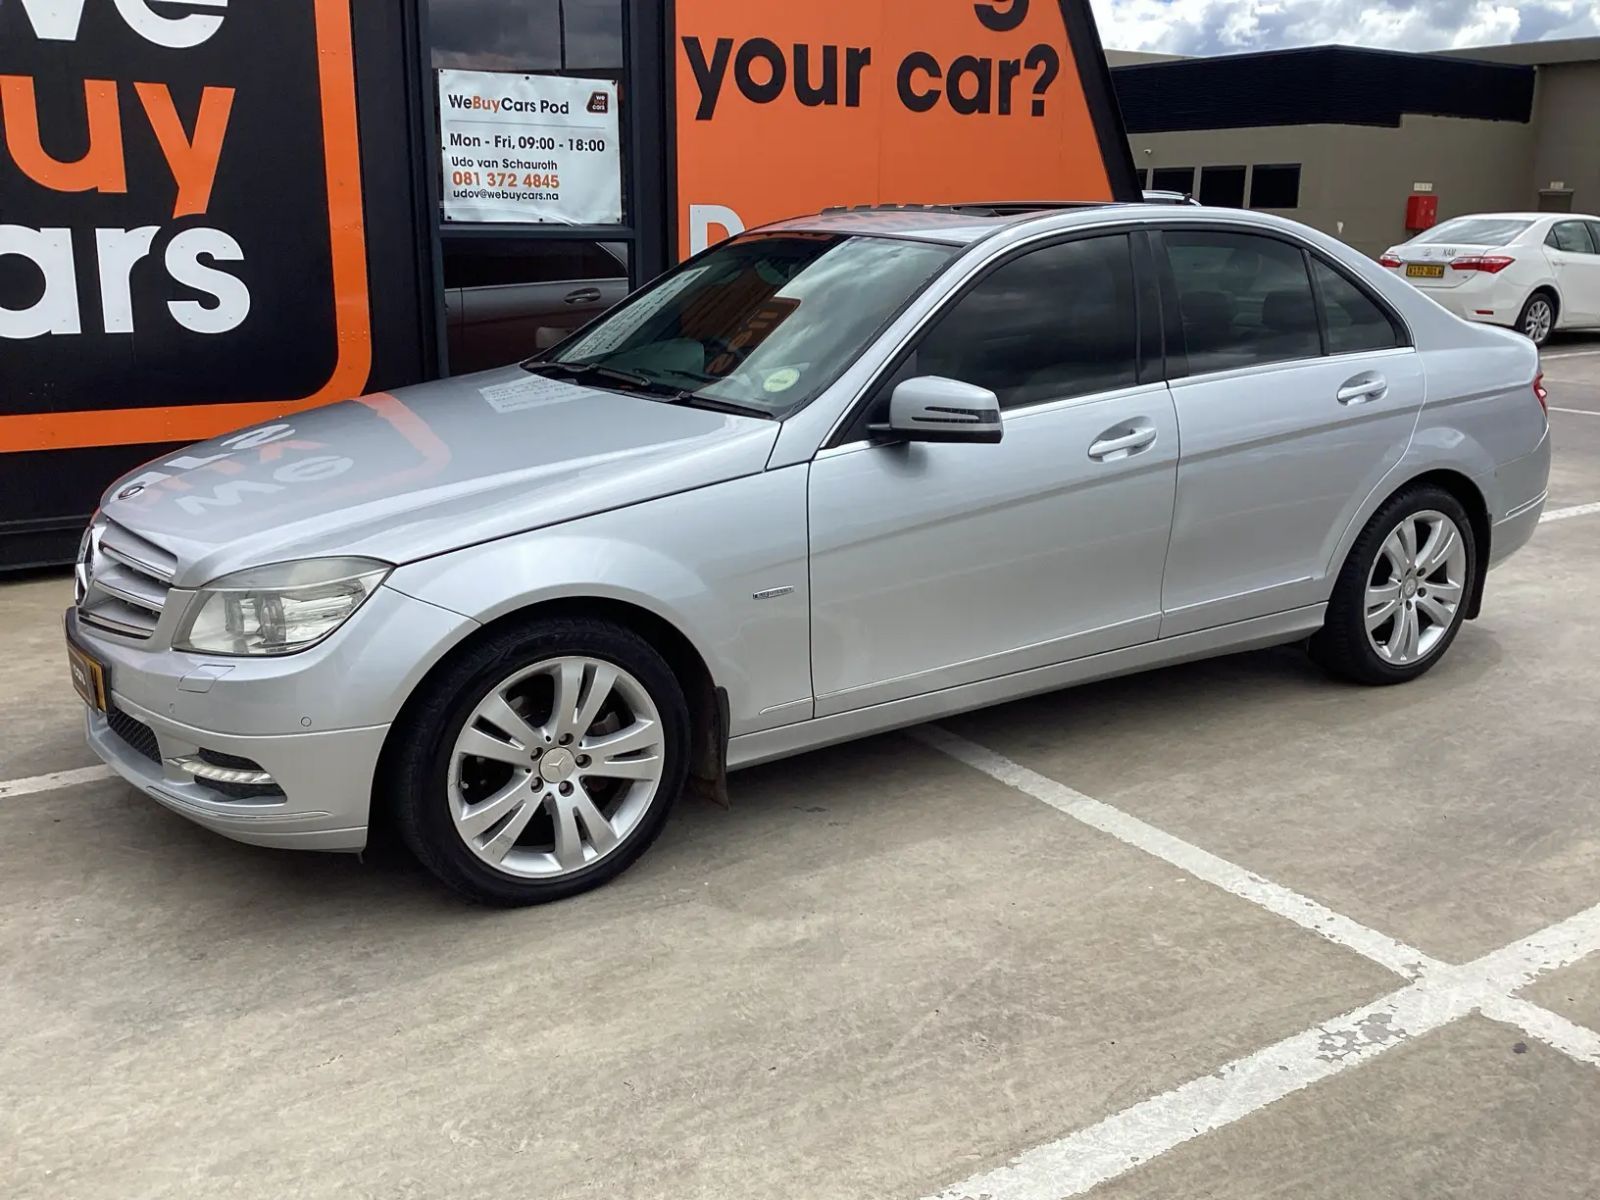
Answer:
[{"label": "silver multi-spoke alloy rim of the Mercedes' front wheel, without tyre", "polygon": [[664,754],[661,715],[634,675],[595,658],[547,659],[467,717],[450,757],[450,816],[496,870],[571,875],[638,827]]}]

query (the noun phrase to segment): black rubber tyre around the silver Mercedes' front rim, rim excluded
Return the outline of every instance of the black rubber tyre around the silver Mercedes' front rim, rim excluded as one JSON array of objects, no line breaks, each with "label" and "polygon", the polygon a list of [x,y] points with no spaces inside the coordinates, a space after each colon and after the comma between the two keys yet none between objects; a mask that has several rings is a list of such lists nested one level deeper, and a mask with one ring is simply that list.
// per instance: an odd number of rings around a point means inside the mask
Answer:
[{"label": "black rubber tyre around the silver Mercedes' front rim, rim excluded", "polygon": [[[645,688],[661,718],[662,774],[638,824],[605,856],[557,878],[525,878],[493,867],[462,842],[450,813],[451,757],[462,725],[491,688],[523,667],[563,656],[605,661]],[[544,904],[616,878],[661,834],[688,773],[690,714],[683,688],[645,638],[606,621],[536,619],[469,643],[427,682],[395,733],[384,786],[400,837],[424,867],[480,904]]]}]

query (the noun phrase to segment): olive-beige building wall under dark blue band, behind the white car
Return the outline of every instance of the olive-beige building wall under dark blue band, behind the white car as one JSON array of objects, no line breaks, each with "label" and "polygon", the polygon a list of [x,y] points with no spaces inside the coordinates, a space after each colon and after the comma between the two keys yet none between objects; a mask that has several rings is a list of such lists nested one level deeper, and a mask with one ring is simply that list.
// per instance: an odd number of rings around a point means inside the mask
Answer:
[{"label": "olive-beige building wall under dark blue band, behind the white car", "polygon": [[[1566,104],[1565,94],[1560,102]],[[1582,123],[1563,120],[1576,139]],[[1434,184],[1440,219],[1533,208],[1534,130],[1518,122],[1408,115],[1400,128],[1197,130],[1134,134],[1128,142],[1138,170],[1301,163],[1299,208],[1275,211],[1376,256],[1408,237],[1405,203],[1416,182]],[[1587,154],[1600,162],[1592,142]],[[1246,178],[1246,198],[1248,186]]]}]

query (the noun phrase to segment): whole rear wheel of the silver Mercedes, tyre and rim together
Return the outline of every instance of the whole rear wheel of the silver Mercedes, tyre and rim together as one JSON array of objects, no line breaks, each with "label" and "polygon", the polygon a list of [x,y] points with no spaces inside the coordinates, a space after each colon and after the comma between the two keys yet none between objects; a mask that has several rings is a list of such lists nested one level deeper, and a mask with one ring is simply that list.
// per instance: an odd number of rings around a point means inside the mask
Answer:
[{"label": "whole rear wheel of the silver Mercedes, tyre and rim together", "polygon": [[1405,683],[1450,648],[1477,570],[1472,522],[1443,488],[1408,488],[1350,547],[1312,656],[1358,683]]}]

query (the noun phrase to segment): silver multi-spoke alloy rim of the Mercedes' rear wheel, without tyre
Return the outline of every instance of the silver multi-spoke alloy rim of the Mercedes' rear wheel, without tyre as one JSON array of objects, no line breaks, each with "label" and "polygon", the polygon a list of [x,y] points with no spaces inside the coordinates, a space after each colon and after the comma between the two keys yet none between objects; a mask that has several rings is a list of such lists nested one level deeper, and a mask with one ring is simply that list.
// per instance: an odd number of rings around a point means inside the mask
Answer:
[{"label": "silver multi-spoke alloy rim of the Mercedes' rear wheel, without tyre", "polygon": [[1421,662],[1450,634],[1466,590],[1461,530],[1432,509],[1408,514],[1378,547],[1366,579],[1366,640],[1384,662]]}]

